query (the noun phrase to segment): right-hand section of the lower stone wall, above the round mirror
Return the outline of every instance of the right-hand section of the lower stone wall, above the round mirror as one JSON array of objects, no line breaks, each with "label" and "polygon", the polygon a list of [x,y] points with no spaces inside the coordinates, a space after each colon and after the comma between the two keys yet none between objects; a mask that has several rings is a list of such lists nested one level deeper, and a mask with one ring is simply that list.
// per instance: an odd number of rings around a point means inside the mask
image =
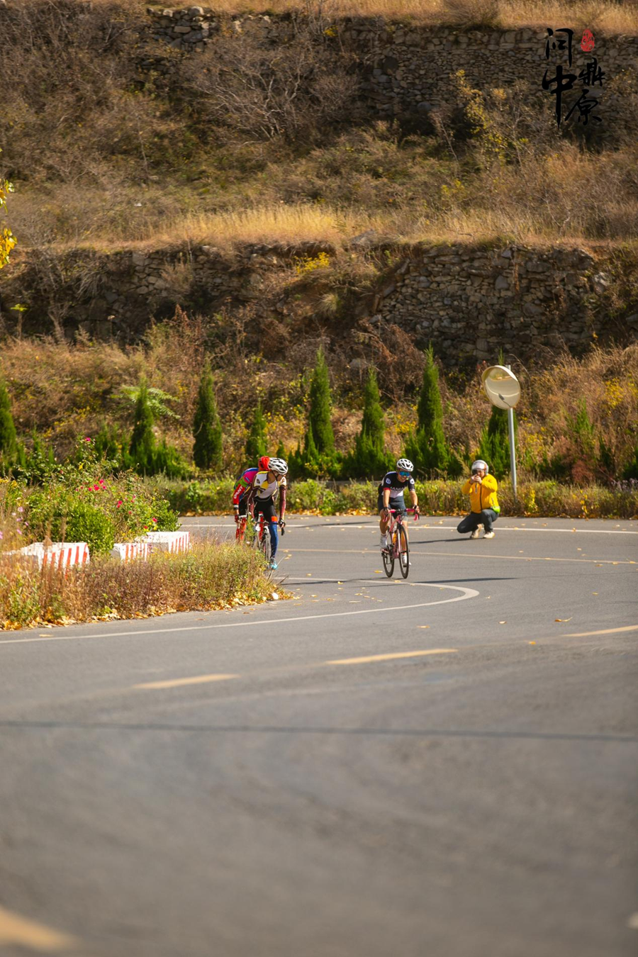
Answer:
[{"label": "right-hand section of the lower stone wall, above the round mirror", "polygon": [[520,358],[539,347],[574,352],[599,339],[635,338],[638,315],[616,320],[603,297],[608,265],[583,249],[414,247],[373,301],[373,324],[397,323],[453,364]]}]

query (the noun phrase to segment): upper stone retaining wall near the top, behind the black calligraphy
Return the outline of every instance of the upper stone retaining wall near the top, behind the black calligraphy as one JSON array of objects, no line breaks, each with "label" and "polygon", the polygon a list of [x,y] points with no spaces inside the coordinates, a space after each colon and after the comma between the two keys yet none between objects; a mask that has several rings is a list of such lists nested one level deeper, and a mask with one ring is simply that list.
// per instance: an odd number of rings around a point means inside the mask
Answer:
[{"label": "upper stone retaining wall near the top, behind the black calligraphy", "polygon": [[[171,48],[202,52],[220,35],[229,32],[259,32],[266,42],[280,43],[292,33],[290,16],[265,14],[229,14],[209,7],[147,8],[150,35]],[[568,19],[568,18],[566,18]],[[563,24],[547,24],[557,29]],[[508,89],[521,84],[521,95],[539,105],[540,98],[551,100],[541,90],[545,68],[563,62],[566,54],[552,51],[545,59],[546,29],[532,30],[461,30],[453,27],[410,26],[391,23],[383,17],[344,17],[327,27],[328,40],[341,44],[359,60],[363,78],[362,94],[366,107],[382,117],[401,117],[407,113],[427,117],[434,109],[455,107],[458,96],[452,75],[465,71],[473,87],[487,92]],[[595,37],[593,53],[581,49],[581,34],[573,38],[573,72],[578,74],[584,63],[596,56],[605,73],[604,85],[590,89],[590,96],[600,97],[598,114],[603,118],[601,132],[613,136],[624,123],[623,82],[611,81],[638,75],[638,37]],[[558,59],[557,57],[561,57]],[[155,59],[145,66],[158,68]],[[168,63],[160,69],[169,70]],[[580,87],[579,87],[580,89]],[[575,92],[565,93],[565,101],[573,103]],[[566,112],[566,111],[565,111]],[[596,127],[599,124],[595,124]]]}]

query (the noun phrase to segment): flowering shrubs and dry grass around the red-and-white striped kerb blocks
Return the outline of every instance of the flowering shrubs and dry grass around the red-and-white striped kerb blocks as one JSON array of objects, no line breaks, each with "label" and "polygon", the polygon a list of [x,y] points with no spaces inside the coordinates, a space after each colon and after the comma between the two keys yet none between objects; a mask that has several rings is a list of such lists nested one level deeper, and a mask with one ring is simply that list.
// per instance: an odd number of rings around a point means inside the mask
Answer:
[{"label": "flowering shrubs and dry grass around the red-and-white striped kerb blocks", "polygon": [[[0,439],[3,424],[6,417]],[[178,527],[178,513],[157,484],[133,471],[114,474],[112,466],[85,436],[64,464],[32,454],[26,467],[0,479],[0,630],[231,608],[273,597],[255,549],[215,542],[177,555],[112,559],[116,541]],[[19,549],[46,539],[86,542],[90,563],[38,569]]]}]

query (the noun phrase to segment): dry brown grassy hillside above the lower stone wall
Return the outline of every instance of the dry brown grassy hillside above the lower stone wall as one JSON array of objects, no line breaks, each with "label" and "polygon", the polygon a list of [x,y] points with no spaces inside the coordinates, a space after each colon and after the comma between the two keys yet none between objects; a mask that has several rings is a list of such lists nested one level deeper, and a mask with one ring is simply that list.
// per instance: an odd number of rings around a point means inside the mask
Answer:
[{"label": "dry brown grassy hillside above the lower stone wall", "polygon": [[[307,9],[321,27],[355,11],[459,29],[544,28],[565,13],[558,2],[520,0]],[[3,10],[0,162],[16,186],[11,224],[21,248],[308,238],[341,246],[366,229],[414,240],[505,235],[539,243],[638,235],[636,78],[605,86],[605,97],[622,96],[626,127],[603,150],[560,138],[551,98],[539,114],[516,87],[485,91],[470,126],[445,112],[418,128],[375,123],[354,110],[359,81],[339,44],[323,36],[313,54],[305,27],[275,54],[256,51],[243,34],[225,34],[196,57],[158,48],[173,61],[171,81],[141,78],[144,10],[137,0],[90,9],[11,0]],[[574,3],[569,19],[594,33],[638,33],[634,4]],[[257,74],[272,56],[282,85],[268,99]],[[308,69],[292,94],[284,80],[299,56]],[[220,62],[255,70],[253,85],[233,88],[233,109],[224,99],[231,79],[215,72]],[[459,91],[458,100],[467,106],[472,96]]]}]

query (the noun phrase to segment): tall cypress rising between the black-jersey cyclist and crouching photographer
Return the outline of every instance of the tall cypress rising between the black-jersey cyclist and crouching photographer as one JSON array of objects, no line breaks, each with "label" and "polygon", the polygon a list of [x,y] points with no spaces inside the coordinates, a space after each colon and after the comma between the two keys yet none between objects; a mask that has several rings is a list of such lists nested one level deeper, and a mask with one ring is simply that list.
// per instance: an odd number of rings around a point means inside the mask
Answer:
[{"label": "tall cypress rising between the black-jersey cyclist and crouching photographer", "polygon": [[456,456],[451,455],[443,432],[443,403],[439,390],[439,370],[434,362],[434,350],[426,350],[423,385],[417,406],[417,430],[407,441],[407,456],[425,472],[441,473],[450,468],[457,471]]}]

